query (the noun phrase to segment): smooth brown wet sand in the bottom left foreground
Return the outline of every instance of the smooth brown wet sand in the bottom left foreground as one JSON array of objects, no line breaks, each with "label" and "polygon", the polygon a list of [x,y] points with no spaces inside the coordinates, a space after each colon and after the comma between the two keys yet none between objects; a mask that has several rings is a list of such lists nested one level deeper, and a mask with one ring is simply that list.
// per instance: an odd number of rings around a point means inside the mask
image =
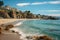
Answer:
[{"label": "smooth brown wet sand in the bottom left foreground", "polygon": [[0,34],[0,40],[20,40],[20,37],[16,33],[2,33]]}]

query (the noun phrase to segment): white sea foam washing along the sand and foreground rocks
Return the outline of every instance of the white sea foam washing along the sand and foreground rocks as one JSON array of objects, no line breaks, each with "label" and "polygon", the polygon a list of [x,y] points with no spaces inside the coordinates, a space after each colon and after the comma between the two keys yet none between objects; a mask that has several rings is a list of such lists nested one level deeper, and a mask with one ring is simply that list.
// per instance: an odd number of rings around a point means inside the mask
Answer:
[{"label": "white sea foam washing along the sand and foreground rocks", "polygon": [[[19,23],[15,24],[14,26],[19,26],[19,25],[23,24],[23,22],[24,22],[24,21],[19,22]],[[25,34],[25,33],[24,33],[22,30],[20,30],[18,27],[14,27],[14,28],[12,28],[12,29],[10,29],[10,30],[14,30],[14,31],[16,31],[16,32],[19,32],[19,34],[21,34],[20,39],[22,39],[22,40],[28,40],[28,39],[26,39],[26,36],[36,35],[36,34]],[[42,36],[42,35],[41,35],[41,36]]]}]

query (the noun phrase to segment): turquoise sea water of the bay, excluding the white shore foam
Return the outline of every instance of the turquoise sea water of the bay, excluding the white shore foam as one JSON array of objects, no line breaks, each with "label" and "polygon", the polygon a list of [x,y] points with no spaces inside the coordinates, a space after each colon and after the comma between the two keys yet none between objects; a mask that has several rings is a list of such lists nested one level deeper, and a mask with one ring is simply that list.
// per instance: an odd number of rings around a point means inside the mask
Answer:
[{"label": "turquoise sea water of the bay, excluding the white shore foam", "polygon": [[60,40],[60,20],[26,20],[18,28],[25,34],[44,34]]}]

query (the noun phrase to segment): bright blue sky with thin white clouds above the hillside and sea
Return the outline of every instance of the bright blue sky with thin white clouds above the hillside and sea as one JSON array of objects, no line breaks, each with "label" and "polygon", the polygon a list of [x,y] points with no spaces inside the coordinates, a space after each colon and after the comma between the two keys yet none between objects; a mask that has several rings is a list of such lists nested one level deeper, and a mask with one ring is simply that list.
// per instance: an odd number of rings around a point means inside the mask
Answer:
[{"label": "bright blue sky with thin white clouds above the hillside and sea", "polygon": [[4,5],[34,14],[60,16],[60,0],[3,0]]}]

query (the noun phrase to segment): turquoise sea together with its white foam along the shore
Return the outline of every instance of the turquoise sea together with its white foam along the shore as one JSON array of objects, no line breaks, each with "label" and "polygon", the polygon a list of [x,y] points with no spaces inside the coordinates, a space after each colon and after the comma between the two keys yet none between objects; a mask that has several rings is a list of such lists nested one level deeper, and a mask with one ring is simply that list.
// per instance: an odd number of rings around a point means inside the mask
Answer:
[{"label": "turquoise sea together with its white foam along the shore", "polygon": [[17,23],[16,26],[19,26],[19,27],[16,27],[15,30],[22,35],[21,39],[23,40],[25,39],[26,36],[33,36],[33,35],[49,35],[53,38],[57,37],[58,38],[57,40],[59,40],[59,37],[60,37],[60,30],[59,30],[60,23],[57,21],[54,21],[54,22],[40,21],[40,20],[25,21],[24,23],[23,22]]}]

